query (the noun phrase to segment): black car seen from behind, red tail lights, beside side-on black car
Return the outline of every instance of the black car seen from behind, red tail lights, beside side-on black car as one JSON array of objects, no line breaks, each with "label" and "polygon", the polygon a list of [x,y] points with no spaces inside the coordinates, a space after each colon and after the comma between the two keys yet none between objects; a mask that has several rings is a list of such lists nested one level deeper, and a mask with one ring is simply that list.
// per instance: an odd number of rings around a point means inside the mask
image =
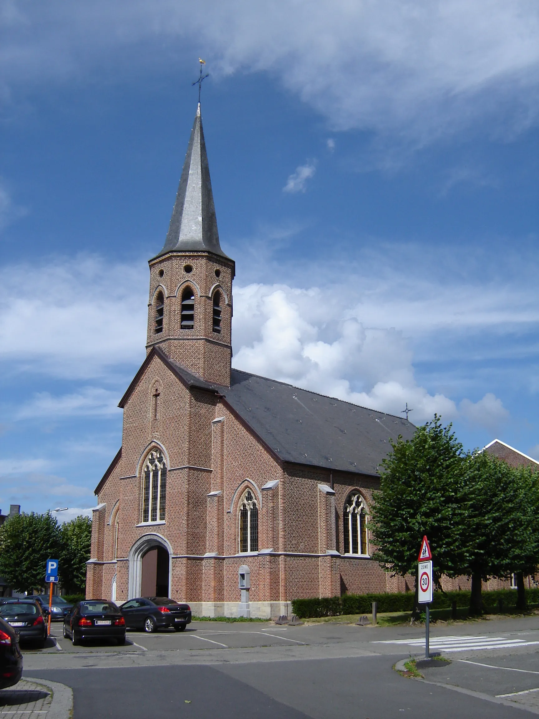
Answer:
[{"label": "black car seen from behind, red tail lights, beside side-on black car", "polygon": [[85,639],[116,639],[125,644],[125,620],[121,611],[106,599],[77,602],[64,617],[63,634],[73,644]]}]

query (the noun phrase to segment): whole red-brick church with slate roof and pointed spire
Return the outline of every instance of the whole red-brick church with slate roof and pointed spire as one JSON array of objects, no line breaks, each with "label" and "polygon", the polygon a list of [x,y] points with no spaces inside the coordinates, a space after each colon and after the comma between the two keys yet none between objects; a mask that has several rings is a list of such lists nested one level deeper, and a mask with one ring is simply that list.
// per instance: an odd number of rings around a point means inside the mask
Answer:
[{"label": "whole red-brick church with slate roof and pointed spire", "polygon": [[369,508],[389,440],[414,426],[232,369],[233,280],[199,105],[165,245],[149,260],[147,357],[96,488],[87,596],[270,618],[296,597],[404,590],[370,557]]}]

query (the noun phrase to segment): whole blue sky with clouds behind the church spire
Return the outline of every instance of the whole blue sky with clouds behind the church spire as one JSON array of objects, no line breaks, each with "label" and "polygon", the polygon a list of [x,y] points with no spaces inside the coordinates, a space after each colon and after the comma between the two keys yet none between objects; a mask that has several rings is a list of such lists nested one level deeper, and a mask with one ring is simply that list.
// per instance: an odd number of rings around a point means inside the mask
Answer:
[{"label": "whole blue sky with clouds behind the church spire", "polygon": [[6,2],[0,508],[95,504],[196,107],[234,365],[539,457],[538,11]]}]

